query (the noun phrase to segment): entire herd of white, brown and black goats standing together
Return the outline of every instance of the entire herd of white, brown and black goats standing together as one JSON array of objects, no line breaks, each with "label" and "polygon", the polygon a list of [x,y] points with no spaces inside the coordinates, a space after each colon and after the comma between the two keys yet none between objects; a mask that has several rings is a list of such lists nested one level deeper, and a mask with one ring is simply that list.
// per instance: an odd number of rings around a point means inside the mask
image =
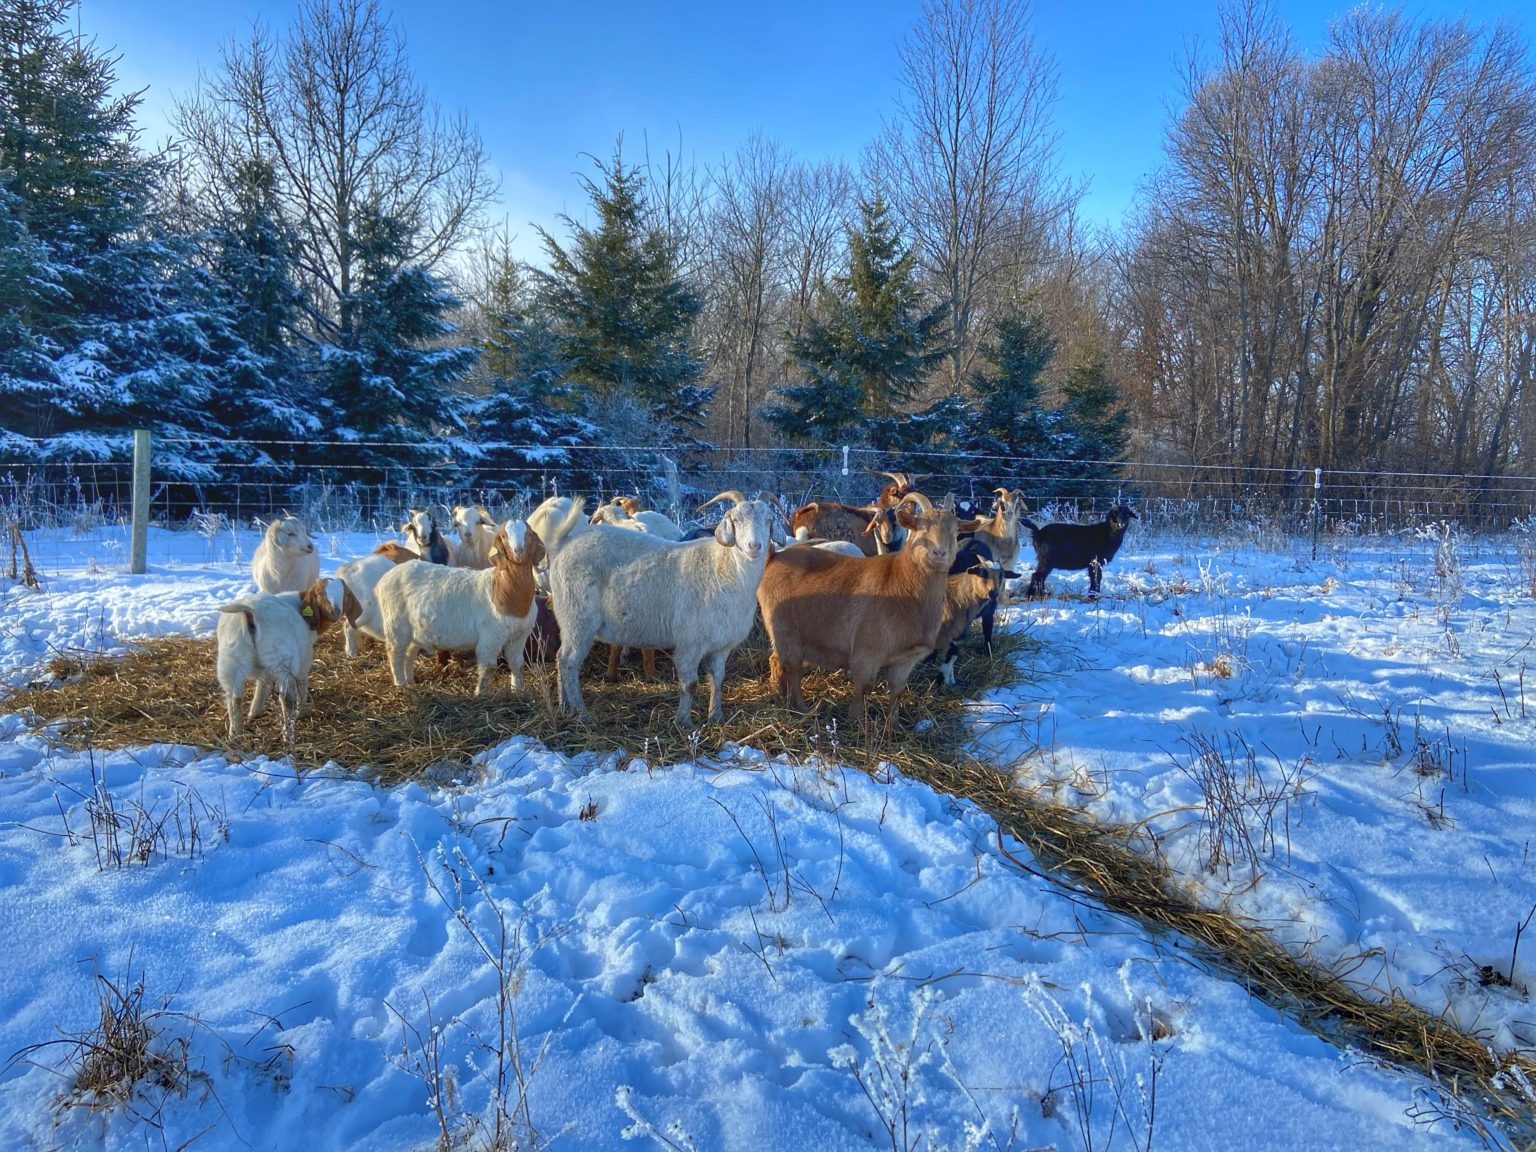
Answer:
[{"label": "entire herd of white, brown and black goats standing together", "polygon": [[[1029,594],[1043,594],[1055,568],[1087,568],[1098,591],[1103,565],[1135,513],[1114,507],[1100,524],[1048,524],[1023,518],[1023,493],[995,490],[991,516],[960,519],[952,496],[937,507],[906,473],[866,505],[816,501],[786,513],[774,498],[722,492],[699,511],[725,504],[714,527],[684,531],[631,498],[616,498],[590,518],[579,496],[554,496],[525,521],[498,524],[485,508],[453,510],[456,539],[430,511],[412,511],[402,533],[319,579],[319,556],[304,524],[275,519],[252,562],[258,593],[220,608],[218,684],[229,737],[241,731],[240,705],[255,680],[250,716],[276,690],[284,733],[307,700],[315,636],[341,624],[349,656],[359,639],[382,641],[396,685],[413,682],[418,654],[475,653],[476,694],[504,657],[513,690],[522,688],[524,654],[554,656],[559,702],[585,711],[581,667],[593,644],[610,645],[610,673],[622,648],[671,653],[682,688],[677,723],[693,720],[693,688],[710,676],[708,720],[720,719],[725,662],[753,628],[757,611],[773,645],[773,684],[793,708],[805,708],[805,665],[842,670],[852,680],[849,716],[885,673],[886,728],[897,696],[919,660],[942,660],[954,684],[957,644],[982,621],[991,645],[1005,581],[1018,578],[1020,528],[1035,545]],[[450,530],[450,531],[452,531]]]}]

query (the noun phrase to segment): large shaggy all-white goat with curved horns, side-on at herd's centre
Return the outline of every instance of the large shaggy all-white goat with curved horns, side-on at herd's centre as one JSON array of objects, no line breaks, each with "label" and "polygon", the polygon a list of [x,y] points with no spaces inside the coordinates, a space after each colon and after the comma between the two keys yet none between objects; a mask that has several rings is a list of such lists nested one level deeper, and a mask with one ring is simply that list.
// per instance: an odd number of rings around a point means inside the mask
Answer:
[{"label": "large shaggy all-white goat with curved horns, side-on at herd's centre", "polygon": [[703,507],[722,499],[733,507],[708,541],[670,544],[639,531],[585,531],[567,539],[578,508],[550,528],[550,599],[561,625],[564,711],[587,710],[581,665],[593,642],[605,641],[673,650],[682,688],[680,727],[693,720],[693,688],[700,664],[707,665],[708,720],[720,719],[725,660],[753,628],[753,598],[770,547],[785,541],[770,504],[722,492]]}]

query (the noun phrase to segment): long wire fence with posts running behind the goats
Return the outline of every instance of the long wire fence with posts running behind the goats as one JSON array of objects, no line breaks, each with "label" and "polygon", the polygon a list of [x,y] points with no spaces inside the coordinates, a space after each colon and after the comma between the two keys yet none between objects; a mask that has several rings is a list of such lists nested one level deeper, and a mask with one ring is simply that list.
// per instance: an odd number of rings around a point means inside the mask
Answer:
[{"label": "long wire fence with posts running behind the goats", "polygon": [[[296,447],[316,458],[275,464]],[[131,442],[92,441],[92,458],[0,458],[0,505],[22,528],[127,522],[132,510]],[[1278,531],[1389,533],[1450,521],[1505,528],[1536,516],[1536,479],[1416,472],[1233,468],[1134,461],[1124,465],[1041,458],[926,453],[892,459],[868,449],[760,449],[719,453],[696,445],[508,445],[528,462],[473,470],[444,452],[412,465],[381,464],[395,449],[419,445],[158,438],[149,516],[166,525],[218,511],[237,524],[290,510],[323,530],[390,530],[407,507],[485,504],[521,513],[558,492],[605,498],[639,492],[651,507],[688,519],[696,504],[727,488],[774,492],[786,505],[805,499],[863,502],[879,485],[871,470],[926,475],[929,493],[978,501],[995,482],[1023,488],[1031,508],[1052,518],[1094,518],[1130,501],[1150,524],[1220,527],[1263,524]],[[218,456],[223,462],[198,462]],[[364,462],[366,461],[366,462]],[[579,464],[573,464],[579,461]],[[473,472],[475,482],[465,476]],[[1319,487],[1313,487],[1315,481]],[[1313,521],[1316,516],[1316,521]]]}]

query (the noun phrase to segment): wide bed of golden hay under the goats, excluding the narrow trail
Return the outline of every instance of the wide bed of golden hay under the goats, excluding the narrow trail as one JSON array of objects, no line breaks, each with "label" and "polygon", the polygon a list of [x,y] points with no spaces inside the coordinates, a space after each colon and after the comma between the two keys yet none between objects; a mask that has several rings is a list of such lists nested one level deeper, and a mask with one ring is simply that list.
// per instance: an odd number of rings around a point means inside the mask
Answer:
[{"label": "wide bed of golden hay under the goats, excluding the narrow trail", "polygon": [[[478,753],[511,736],[527,736],[571,756],[621,753],[648,763],[710,757],[727,745],[802,759],[836,753],[843,762],[872,771],[882,762],[900,766],[908,753],[952,753],[966,739],[965,696],[1020,679],[1015,657],[1035,647],[1017,633],[994,639],[992,659],[977,644],[962,653],[955,667],[960,688],[945,688],[932,668],[920,668],[902,702],[903,723],[891,740],[885,739],[885,699],[879,691],[869,720],[849,728],[843,719],[849,687],[840,674],[806,676],[806,697],[820,700],[813,714],[785,708],[768,684],[768,647],[760,628],[731,656],[723,722],[694,731],[673,723],[677,685],[665,657],[657,662],[660,679],[642,680],[624,670],[617,684],[604,684],[607,650],[601,645],[582,673],[590,719],[558,713],[553,667],[527,670],[522,693],[513,693],[505,673],[498,673],[496,691],[476,699],[472,662],[438,665],[421,659],[418,684],[396,688],[382,648],[370,647],[349,660],[339,637],[332,636],[315,647],[313,711],[298,722],[292,750],[283,743],[275,705],[238,742],[224,739],[212,639],[164,637],[137,644],[123,656],[55,660],[51,682],[12,693],[6,707],[54,725],[66,746],[184,743],[233,759],[258,753],[292,756],[301,770],[327,763],[366,768],[386,783],[424,774],[435,779],[462,774]],[[705,705],[705,694],[696,690],[694,716],[702,716]],[[914,734],[914,727],[922,731]]]}]

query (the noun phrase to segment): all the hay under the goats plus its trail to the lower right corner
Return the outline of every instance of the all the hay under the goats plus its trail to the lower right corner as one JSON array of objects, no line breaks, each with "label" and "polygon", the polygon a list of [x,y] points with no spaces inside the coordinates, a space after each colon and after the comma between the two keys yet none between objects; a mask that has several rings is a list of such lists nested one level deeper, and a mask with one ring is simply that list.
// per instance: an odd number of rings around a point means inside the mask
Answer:
[{"label": "all the hay under the goats plus its trail to the lower right corner", "polygon": [[[1072,808],[1029,796],[1009,774],[969,754],[971,727],[980,717],[965,696],[1025,679],[1020,657],[1037,647],[1017,631],[1001,633],[995,659],[988,659],[972,642],[957,664],[958,691],[943,688],[931,670],[920,668],[903,699],[903,722],[894,739],[886,739],[880,696],[869,722],[843,722],[848,685],[842,676],[808,674],[806,696],[820,707],[814,714],[786,710],[768,685],[760,630],[731,657],[723,723],[694,733],[673,725],[673,680],[644,682],[625,673],[619,684],[602,684],[601,648],[582,677],[591,719],[571,720],[556,713],[553,668],[531,668],[522,694],[501,687],[476,699],[472,665],[421,660],[421,684],[398,690],[381,650],[347,660],[339,641],[327,637],[315,654],[313,714],[300,720],[292,757],[301,768],[367,765],[392,783],[465,771],[476,753],[522,734],[567,754],[624,753],[647,763],[708,760],[736,743],[796,759],[836,759],[871,773],[894,766],[994,817],[1001,854],[1021,869],[1177,943],[1197,965],[1236,978],[1316,1035],[1436,1077],[1452,1095],[1475,1101],[1522,1143],[1536,1140],[1536,1117],[1518,1089],[1521,1077],[1536,1083],[1536,1061],[1524,1054],[1496,1055],[1487,1040],[1428,1015],[1393,989],[1326,971],[1287,951],[1261,926],[1200,906],[1181,892],[1138,829],[1098,825]],[[175,742],[233,757],[286,751],[275,708],[240,745],[224,742],[212,641],[149,641],[121,657],[60,660],[52,671],[55,682],[17,691],[6,707],[58,725],[55,733],[68,745]],[[498,685],[505,685],[504,674],[498,674]],[[696,714],[702,707],[696,694]],[[1003,833],[1054,871],[1037,871],[1009,854]]]}]

